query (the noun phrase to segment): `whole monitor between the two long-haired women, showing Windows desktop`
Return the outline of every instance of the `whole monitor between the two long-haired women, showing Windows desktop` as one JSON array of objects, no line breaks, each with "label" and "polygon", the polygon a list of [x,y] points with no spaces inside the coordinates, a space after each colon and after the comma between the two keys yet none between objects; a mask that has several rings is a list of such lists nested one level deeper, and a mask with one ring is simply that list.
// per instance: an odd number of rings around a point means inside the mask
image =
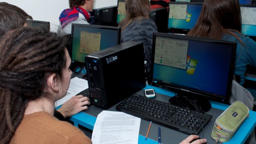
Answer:
[{"label": "whole monitor between the two long-haired women, showing Windows desktop", "polygon": [[167,32],[187,34],[202,10],[202,2],[169,2]]}]

